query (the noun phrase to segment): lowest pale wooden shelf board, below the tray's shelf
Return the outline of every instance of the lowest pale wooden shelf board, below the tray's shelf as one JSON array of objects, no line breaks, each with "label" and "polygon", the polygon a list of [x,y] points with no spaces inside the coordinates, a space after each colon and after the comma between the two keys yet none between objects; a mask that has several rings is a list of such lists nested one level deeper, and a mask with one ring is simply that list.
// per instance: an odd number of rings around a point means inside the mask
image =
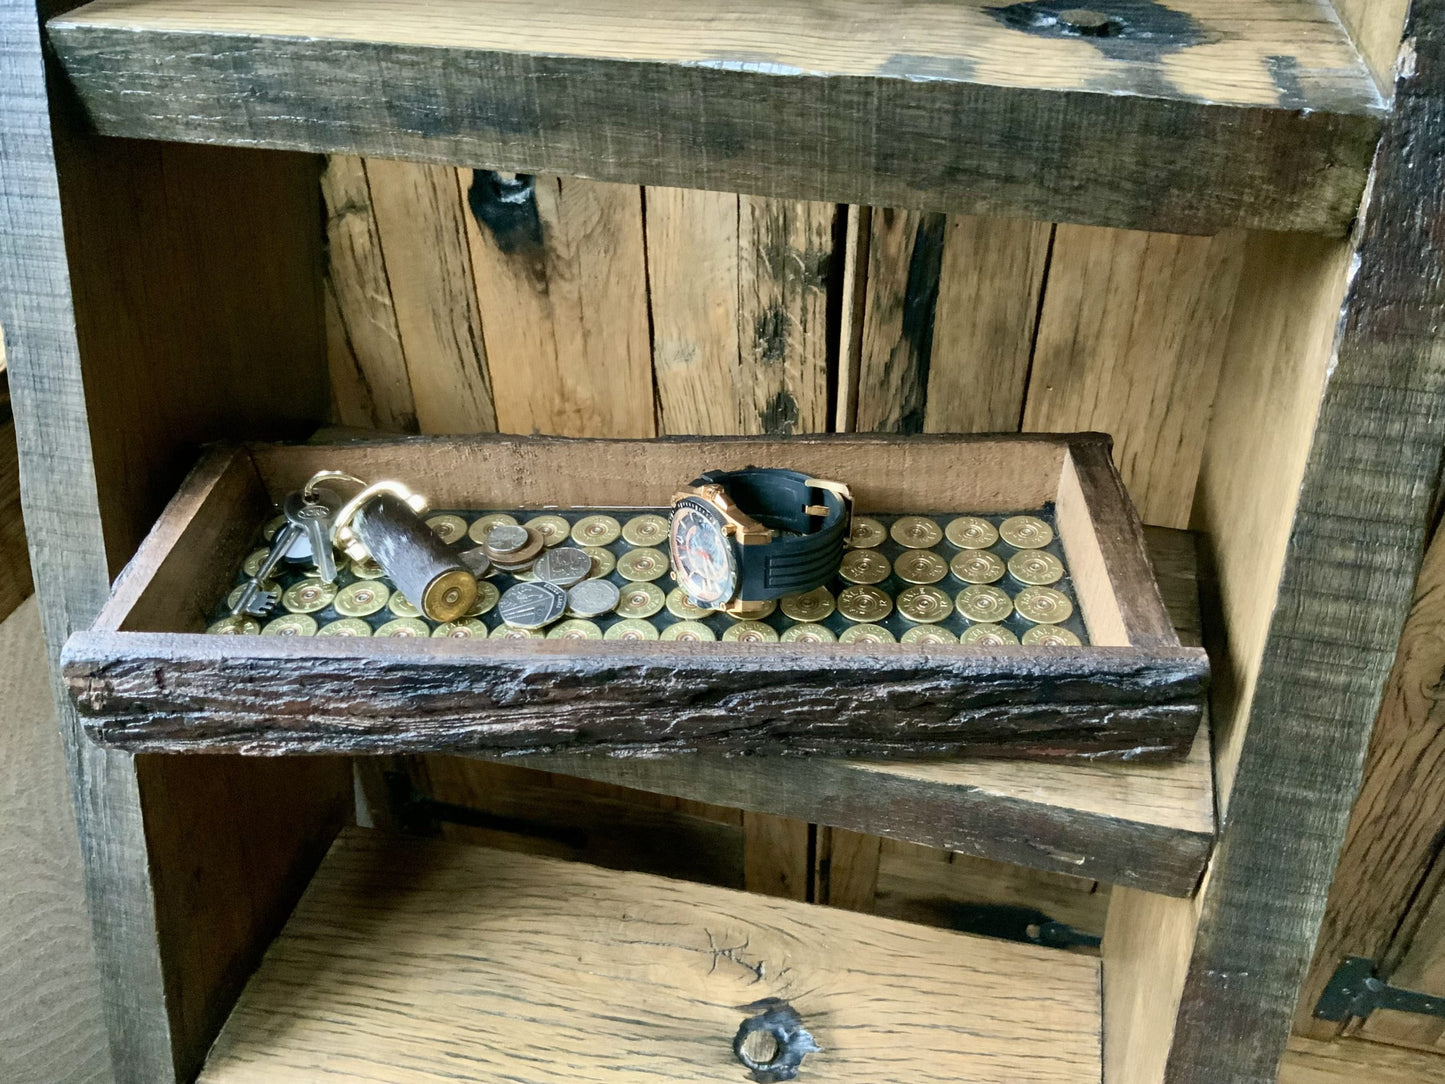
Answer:
[{"label": "lowest pale wooden shelf board, below the tray's shelf", "polygon": [[788,1002],[801,1078],[1100,1078],[1091,957],[480,847],[344,833],[201,1084],[737,1084]]}]

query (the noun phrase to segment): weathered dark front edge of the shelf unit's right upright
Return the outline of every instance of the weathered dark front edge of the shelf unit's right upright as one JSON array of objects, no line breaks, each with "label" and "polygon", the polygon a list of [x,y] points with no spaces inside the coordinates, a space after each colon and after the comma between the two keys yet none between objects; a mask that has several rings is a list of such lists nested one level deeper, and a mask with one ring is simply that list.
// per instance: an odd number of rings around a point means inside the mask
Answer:
[{"label": "weathered dark front edge of the shelf unit's right upright", "polygon": [[[1415,59],[1396,81],[1354,275],[1328,322],[1338,334],[1315,358],[1328,380],[1202,896],[1170,1081],[1274,1077],[1419,569],[1445,425],[1445,4],[1419,0],[1406,36]],[[1260,460],[1250,463],[1259,477]],[[1273,478],[1263,481],[1256,499]],[[1241,526],[1235,509],[1228,529]],[[1212,528],[1222,549],[1224,520]],[[1238,548],[1261,564],[1263,541],[1243,535]]]}]

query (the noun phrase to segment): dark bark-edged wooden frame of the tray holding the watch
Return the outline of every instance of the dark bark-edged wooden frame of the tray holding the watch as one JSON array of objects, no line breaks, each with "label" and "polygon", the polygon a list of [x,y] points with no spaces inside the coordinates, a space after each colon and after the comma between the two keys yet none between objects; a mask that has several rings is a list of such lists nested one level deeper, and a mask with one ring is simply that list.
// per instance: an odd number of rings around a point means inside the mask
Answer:
[{"label": "dark bark-edged wooden frame of the tray holding the watch", "polygon": [[[207,636],[273,503],[321,468],[435,507],[657,506],[707,468],[845,480],[860,512],[1052,503],[1085,648]],[[413,438],[208,454],[64,672],[134,752],[577,750],[1170,759],[1208,659],[1181,646],[1098,434],[686,441]]]}]

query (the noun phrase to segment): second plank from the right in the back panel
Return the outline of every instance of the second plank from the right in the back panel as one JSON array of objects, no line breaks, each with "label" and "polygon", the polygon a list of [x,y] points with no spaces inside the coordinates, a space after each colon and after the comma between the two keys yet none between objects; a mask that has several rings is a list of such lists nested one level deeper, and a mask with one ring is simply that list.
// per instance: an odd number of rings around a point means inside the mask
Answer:
[{"label": "second plank from the right in the back panel", "polygon": [[933,312],[925,432],[1012,432],[1020,428],[1039,295],[1049,275],[1052,244],[1049,223],[948,217]]}]

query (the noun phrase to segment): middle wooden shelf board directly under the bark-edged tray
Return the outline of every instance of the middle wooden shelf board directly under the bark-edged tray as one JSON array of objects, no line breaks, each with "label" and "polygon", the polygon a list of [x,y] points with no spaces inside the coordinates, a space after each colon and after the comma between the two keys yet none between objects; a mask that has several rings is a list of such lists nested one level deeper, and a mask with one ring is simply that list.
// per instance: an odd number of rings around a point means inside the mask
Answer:
[{"label": "middle wooden shelf board directly under the bark-edged tray", "polygon": [[[1147,528],[1144,539],[1179,639],[1198,645],[1194,536]],[[1208,723],[1172,765],[577,754],[525,763],[1169,896],[1194,893],[1215,835]]]}]

